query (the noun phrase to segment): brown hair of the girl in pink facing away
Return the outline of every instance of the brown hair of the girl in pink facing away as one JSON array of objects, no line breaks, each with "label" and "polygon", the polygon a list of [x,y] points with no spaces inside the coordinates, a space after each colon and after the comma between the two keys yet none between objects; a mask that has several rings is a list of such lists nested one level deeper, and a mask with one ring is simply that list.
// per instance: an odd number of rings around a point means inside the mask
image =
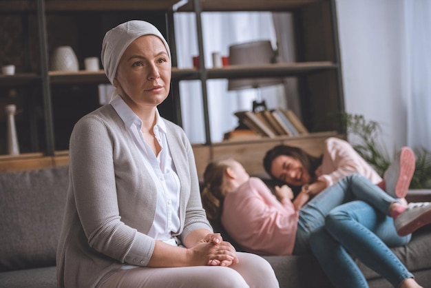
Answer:
[{"label": "brown hair of the girl in pink facing away", "polygon": [[205,168],[202,206],[210,220],[218,220],[222,215],[224,200],[223,174],[228,167],[227,161],[214,161]]}]

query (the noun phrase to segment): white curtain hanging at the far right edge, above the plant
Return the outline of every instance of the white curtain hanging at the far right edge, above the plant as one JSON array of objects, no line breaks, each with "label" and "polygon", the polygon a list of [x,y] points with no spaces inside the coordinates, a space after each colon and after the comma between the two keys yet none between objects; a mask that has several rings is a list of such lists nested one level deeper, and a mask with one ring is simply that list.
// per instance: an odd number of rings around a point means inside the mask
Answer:
[{"label": "white curtain hanging at the far right edge, above the plant", "polygon": [[431,151],[431,1],[403,0],[407,143]]}]

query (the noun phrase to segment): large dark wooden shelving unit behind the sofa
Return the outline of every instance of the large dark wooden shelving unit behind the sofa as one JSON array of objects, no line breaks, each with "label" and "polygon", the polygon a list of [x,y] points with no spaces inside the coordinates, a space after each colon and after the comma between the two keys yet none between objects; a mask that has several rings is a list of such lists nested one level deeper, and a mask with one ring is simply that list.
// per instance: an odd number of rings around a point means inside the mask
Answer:
[{"label": "large dark wooden shelving unit behind the sofa", "polygon": [[[0,171],[19,169],[20,167],[45,167],[46,165],[66,165],[67,151],[58,152],[54,145],[54,120],[52,113],[52,87],[72,87],[71,85],[96,85],[108,83],[103,70],[98,72],[53,72],[48,67],[47,16],[71,14],[121,14],[129,12],[153,12],[165,14],[166,37],[172,52],[173,89],[170,110],[174,122],[181,125],[180,81],[199,80],[202,83],[202,100],[205,121],[206,143],[193,144],[198,172],[213,159],[233,156],[246,165],[251,174],[262,174],[261,161],[264,152],[274,145],[288,143],[304,147],[312,154],[320,152],[323,141],[329,136],[343,137],[337,125],[326,123],[329,114],[344,112],[344,97],[341,81],[341,64],[337,36],[337,17],[335,0],[3,0],[0,1],[0,14],[35,15],[41,49],[41,71],[0,76],[0,88],[17,88],[33,85],[43,95],[43,114],[45,121],[46,149],[43,152],[23,154],[18,157],[0,156]],[[196,15],[199,54],[204,54],[202,43],[202,12],[233,11],[273,11],[290,12],[295,25],[295,43],[297,61],[295,63],[277,63],[253,67],[238,65],[224,68],[177,68],[176,45],[173,15],[180,12],[193,12]],[[203,57],[200,57],[202,59]],[[201,63],[203,64],[203,63]],[[312,133],[303,136],[280,136],[262,138],[255,141],[227,141],[213,143],[210,138],[209,107],[207,105],[207,80],[238,79],[262,76],[296,77],[299,83],[303,122]],[[70,86],[67,86],[70,85]],[[70,89],[70,88],[67,88]],[[58,97],[58,96],[56,96]],[[315,129],[316,124],[322,125]],[[328,132],[330,131],[330,132]],[[341,132],[341,133],[340,133]],[[37,134],[34,132],[34,134]]]}]

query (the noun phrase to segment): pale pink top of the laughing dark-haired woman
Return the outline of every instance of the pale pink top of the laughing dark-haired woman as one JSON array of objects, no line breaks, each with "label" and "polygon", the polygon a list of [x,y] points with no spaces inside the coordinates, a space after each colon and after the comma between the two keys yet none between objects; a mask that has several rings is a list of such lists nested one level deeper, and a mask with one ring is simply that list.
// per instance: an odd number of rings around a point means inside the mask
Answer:
[{"label": "pale pink top of the laughing dark-haired woman", "polygon": [[326,139],[322,165],[316,170],[318,180],[326,181],[328,187],[353,173],[361,174],[373,184],[381,182],[379,174],[357,154],[352,145],[340,138]]}]

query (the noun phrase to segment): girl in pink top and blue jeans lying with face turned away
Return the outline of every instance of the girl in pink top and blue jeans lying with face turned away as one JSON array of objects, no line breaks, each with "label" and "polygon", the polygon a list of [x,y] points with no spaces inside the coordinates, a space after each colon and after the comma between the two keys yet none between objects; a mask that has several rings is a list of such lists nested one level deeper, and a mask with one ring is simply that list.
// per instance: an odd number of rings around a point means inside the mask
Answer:
[{"label": "girl in pink top and blue jeans lying with face turned away", "polygon": [[299,210],[286,185],[276,187],[276,194],[280,201],[233,159],[210,163],[204,172],[202,201],[208,218],[221,220],[246,251],[260,255],[313,251],[335,287],[367,287],[350,251],[394,287],[421,287],[388,246],[406,245],[410,234],[400,236],[397,230],[417,229],[417,222],[406,221],[412,215],[428,216],[429,223],[429,208],[406,209],[359,174],[342,178]]}]

